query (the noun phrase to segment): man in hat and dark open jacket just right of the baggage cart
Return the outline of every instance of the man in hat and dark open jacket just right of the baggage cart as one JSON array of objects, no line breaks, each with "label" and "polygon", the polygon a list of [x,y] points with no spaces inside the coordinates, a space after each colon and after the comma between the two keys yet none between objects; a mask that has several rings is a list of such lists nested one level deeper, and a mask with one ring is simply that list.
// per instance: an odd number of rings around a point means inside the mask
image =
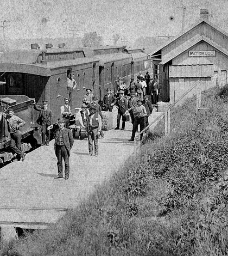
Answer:
[{"label": "man in hat and dark open jacket just right of the baggage cart", "polygon": [[116,102],[116,107],[118,109],[118,114],[117,114],[117,119],[116,119],[116,128],[115,130],[119,130],[119,124],[121,122],[121,117],[122,117],[122,128],[121,130],[125,129],[125,117],[124,114],[126,112],[126,110],[128,109],[128,101],[126,100],[126,98],[123,96],[124,92],[123,90],[119,91],[119,97],[117,99]]}]

